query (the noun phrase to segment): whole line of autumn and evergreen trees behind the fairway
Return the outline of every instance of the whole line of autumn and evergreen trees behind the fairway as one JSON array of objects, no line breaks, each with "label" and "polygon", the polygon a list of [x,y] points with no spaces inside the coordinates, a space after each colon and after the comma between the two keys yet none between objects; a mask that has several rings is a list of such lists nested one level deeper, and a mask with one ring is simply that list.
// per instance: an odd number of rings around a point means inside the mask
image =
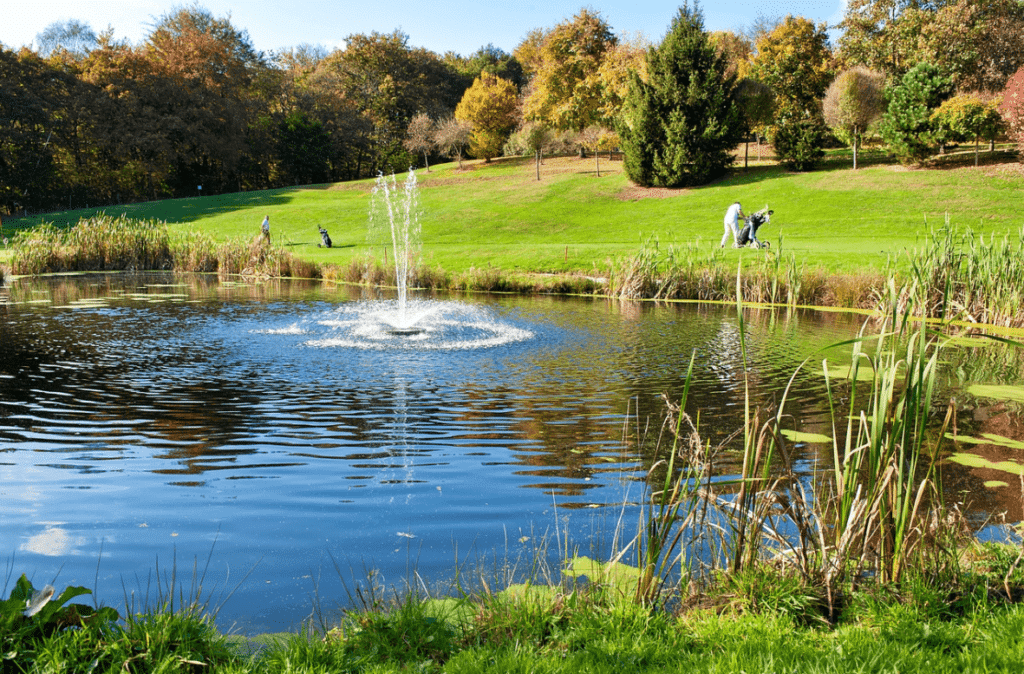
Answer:
[{"label": "whole line of autumn and evergreen trees behind the fairway", "polygon": [[850,0],[835,45],[828,28],[711,33],[686,3],[651,44],[582,9],[512,53],[463,56],[399,31],[264,53],[198,5],[137,45],[55,24],[35,50],[0,45],[0,212],[612,148],[640,184],[698,184],[751,137],[802,170],[836,139],[856,158],[878,136],[916,162],[1024,130],[1024,3]]}]

